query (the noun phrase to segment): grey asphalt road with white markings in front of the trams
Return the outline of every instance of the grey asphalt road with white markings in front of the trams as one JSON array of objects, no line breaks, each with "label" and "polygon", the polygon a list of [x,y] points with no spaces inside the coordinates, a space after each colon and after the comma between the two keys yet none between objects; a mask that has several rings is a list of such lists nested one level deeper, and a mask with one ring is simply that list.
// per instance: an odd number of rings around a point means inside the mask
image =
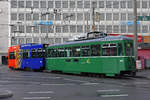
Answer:
[{"label": "grey asphalt road with white markings in front of the trams", "polygon": [[13,92],[4,100],[150,100],[149,79],[13,71],[7,66],[0,66],[0,89]]}]

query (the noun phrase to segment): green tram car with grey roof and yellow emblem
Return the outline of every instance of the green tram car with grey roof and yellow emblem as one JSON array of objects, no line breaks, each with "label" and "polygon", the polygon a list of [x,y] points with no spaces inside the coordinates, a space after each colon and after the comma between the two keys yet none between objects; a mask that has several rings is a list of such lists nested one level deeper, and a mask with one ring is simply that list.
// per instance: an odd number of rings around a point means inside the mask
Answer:
[{"label": "green tram car with grey roof and yellow emblem", "polygon": [[73,74],[135,75],[133,40],[107,36],[54,44],[47,48],[46,69]]}]

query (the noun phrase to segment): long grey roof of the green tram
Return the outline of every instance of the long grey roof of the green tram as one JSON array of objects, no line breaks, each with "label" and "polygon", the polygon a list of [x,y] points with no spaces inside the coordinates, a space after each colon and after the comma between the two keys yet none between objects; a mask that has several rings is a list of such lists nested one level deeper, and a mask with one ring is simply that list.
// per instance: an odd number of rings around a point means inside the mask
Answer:
[{"label": "long grey roof of the green tram", "polygon": [[62,46],[62,45],[69,45],[69,44],[78,44],[78,43],[89,43],[89,42],[99,42],[99,41],[117,41],[117,40],[132,40],[129,37],[120,35],[120,36],[106,36],[104,38],[97,38],[97,39],[90,39],[90,40],[81,40],[81,41],[69,41],[65,43],[58,43],[53,44],[50,46]]}]

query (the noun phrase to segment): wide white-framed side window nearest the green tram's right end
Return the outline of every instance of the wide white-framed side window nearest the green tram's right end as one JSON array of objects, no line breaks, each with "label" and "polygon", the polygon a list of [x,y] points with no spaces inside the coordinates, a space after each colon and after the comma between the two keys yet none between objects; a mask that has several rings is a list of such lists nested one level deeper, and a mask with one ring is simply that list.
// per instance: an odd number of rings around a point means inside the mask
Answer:
[{"label": "wide white-framed side window nearest the green tram's right end", "polygon": [[102,51],[103,56],[117,56],[117,47],[115,45],[108,44],[106,46],[103,44]]}]

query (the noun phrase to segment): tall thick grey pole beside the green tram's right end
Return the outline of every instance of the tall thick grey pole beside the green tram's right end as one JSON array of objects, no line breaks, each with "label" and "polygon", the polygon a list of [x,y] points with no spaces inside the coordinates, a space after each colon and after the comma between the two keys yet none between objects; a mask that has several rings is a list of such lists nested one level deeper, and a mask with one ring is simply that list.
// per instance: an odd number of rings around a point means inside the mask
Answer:
[{"label": "tall thick grey pole beside the green tram's right end", "polygon": [[134,13],[134,56],[135,60],[138,59],[138,52],[137,52],[137,1],[133,0],[133,13]]}]

